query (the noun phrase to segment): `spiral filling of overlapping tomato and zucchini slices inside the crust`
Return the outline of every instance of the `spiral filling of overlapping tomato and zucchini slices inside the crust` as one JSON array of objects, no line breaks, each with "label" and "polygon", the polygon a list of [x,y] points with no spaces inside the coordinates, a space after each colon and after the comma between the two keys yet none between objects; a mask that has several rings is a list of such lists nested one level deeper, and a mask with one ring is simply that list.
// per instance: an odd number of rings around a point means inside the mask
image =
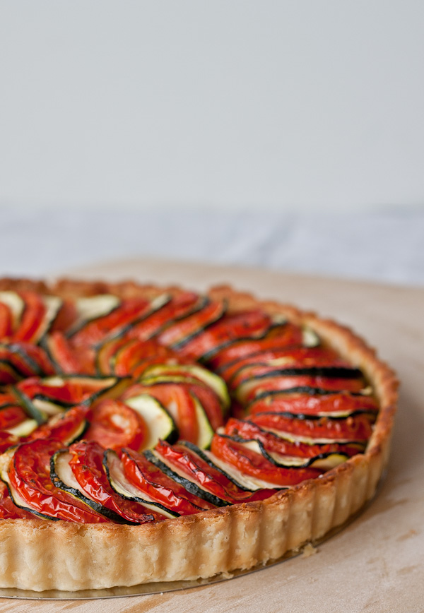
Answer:
[{"label": "spiral filling of overlapping tomato and zucchini slices inside the crust", "polygon": [[311,329],[194,292],[0,292],[0,518],[157,522],[362,453],[379,406]]}]

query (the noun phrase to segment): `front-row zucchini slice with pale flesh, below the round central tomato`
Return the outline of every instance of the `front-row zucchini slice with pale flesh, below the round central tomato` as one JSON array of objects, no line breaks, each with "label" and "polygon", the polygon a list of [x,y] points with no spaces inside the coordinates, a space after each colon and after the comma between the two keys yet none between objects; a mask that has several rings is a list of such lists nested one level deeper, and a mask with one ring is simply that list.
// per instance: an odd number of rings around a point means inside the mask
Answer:
[{"label": "front-row zucchini slice with pale flesh, below the round central tomato", "polygon": [[150,496],[147,496],[145,492],[141,492],[140,489],[129,482],[122,469],[121,460],[119,460],[117,453],[112,451],[112,449],[107,449],[105,451],[103,466],[105,467],[110,486],[119,496],[122,496],[122,498],[126,500],[139,502],[139,504],[142,504],[154,514],[155,519],[179,517],[179,513],[172,511],[159,502],[155,502]]}]

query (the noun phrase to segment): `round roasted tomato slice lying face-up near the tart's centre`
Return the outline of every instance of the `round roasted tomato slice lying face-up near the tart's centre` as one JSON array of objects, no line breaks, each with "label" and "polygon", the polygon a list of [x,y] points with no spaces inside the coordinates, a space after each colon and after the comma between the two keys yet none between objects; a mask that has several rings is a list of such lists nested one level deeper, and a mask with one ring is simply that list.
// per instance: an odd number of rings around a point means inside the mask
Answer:
[{"label": "round roasted tomato slice lying face-up near the tart's centre", "polygon": [[107,398],[91,408],[90,427],[85,438],[97,441],[104,448],[129,447],[139,450],[147,439],[143,418],[120,400]]}]

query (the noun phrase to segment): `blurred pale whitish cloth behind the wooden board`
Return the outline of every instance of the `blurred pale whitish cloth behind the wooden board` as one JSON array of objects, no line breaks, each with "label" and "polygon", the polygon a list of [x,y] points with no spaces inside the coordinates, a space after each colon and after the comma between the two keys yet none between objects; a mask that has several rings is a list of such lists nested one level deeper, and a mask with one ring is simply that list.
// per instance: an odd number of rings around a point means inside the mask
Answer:
[{"label": "blurred pale whitish cloth behind the wooden board", "polygon": [[1,275],[152,256],[424,284],[424,213],[295,215],[86,208],[1,211]]}]

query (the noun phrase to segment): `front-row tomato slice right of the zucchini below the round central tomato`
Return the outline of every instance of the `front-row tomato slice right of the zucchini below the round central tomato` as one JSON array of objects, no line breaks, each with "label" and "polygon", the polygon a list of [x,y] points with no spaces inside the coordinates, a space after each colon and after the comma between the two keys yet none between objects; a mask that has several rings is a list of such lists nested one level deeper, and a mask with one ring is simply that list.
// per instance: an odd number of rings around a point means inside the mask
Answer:
[{"label": "front-row tomato slice right of the zucchini below the round central tomato", "polygon": [[182,485],[167,477],[160,468],[149,462],[142,453],[131,449],[122,449],[122,465],[126,478],[152,500],[163,504],[179,515],[191,515],[209,508],[215,508],[207,502],[187,492]]}]

